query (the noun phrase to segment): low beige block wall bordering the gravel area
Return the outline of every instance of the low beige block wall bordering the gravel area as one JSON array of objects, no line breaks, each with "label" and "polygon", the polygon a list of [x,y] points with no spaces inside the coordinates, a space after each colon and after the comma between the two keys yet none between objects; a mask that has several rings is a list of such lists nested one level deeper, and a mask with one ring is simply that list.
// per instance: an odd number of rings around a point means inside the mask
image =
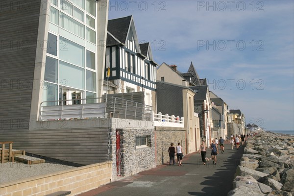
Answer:
[{"label": "low beige block wall bordering the gravel area", "polygon": [[111,162],[97,163],[46,175],[3,183],[1,196],[44,196],[57,191],[71,191],[72,196],[111,182]]}]

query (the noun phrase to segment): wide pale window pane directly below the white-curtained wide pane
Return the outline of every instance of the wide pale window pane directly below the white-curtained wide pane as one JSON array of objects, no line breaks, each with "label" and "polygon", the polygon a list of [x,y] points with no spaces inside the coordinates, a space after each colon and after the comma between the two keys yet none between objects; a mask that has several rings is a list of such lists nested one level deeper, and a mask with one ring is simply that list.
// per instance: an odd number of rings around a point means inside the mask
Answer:
[{"label": "wide pale window pane directly below the white-curtained wide pane", "polygon": [[59,41],[60,59],[80,67],[85,67],[85,48],[61,36]]}]

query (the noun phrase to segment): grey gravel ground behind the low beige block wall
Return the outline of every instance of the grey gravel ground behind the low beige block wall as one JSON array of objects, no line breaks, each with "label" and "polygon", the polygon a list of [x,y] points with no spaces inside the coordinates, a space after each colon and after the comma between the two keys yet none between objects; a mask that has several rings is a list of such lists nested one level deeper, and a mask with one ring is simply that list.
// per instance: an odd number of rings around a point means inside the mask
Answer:
[{"label": "grey gravel ground behind the low beige block wall", "polygon": [[0,163],[0,184],[72,168],[75,167],[53,163],[41,163],[34,165],[27,165],[23,163]]}]

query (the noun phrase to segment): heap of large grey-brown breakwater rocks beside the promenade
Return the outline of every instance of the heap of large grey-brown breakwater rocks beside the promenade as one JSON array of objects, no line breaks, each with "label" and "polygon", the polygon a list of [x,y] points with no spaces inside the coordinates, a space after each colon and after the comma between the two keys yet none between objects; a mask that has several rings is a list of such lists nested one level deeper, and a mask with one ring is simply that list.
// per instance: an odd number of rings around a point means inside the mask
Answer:
[{"label": "heap of large grey-brown breakwater rocks beside the promenade", "polygon": [[260,132],[246,141],[228,196],[294,196],[294,137]]}]

